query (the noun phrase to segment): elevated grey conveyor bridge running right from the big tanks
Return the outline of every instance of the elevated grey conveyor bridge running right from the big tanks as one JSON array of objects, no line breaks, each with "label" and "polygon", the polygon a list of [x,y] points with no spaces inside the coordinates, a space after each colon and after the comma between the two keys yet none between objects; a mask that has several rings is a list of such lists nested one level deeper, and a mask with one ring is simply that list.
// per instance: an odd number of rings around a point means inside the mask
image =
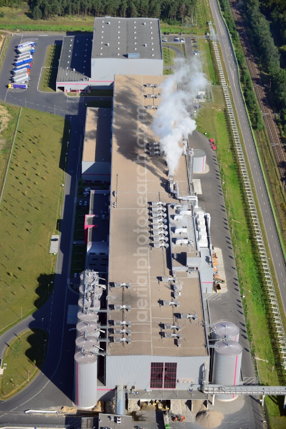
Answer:
[{"label": "elevated grey conveyor bridge running right from the big tanks", "polygon": [[210,395],[286,395],[286,386],[219,386],[217,384],[207,384],[204,393]]}]

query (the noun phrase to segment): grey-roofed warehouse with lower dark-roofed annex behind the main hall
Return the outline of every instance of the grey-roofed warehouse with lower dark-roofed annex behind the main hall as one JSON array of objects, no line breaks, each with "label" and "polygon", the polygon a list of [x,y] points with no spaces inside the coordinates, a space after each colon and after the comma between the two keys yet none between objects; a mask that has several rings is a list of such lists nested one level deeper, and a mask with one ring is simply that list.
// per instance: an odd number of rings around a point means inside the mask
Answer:
[{"label": "grey-roofed warehouse with lower dark-roofed annex behind the main hall", "polygon": [[159,19],[95,18],[93,37],[63,38],[57,91],[112,89],[115,74],[163,75]]}]

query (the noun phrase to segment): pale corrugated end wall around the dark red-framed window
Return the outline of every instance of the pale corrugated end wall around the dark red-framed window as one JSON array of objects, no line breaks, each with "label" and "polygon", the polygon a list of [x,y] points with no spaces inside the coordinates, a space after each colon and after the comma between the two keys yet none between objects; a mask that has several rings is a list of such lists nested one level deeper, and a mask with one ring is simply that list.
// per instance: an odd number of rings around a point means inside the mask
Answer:
[{"label": "pale corrugated end wall around the dark red-framed window", "polygon": [[[106,388],[127,384],[127,388],[149,389],[151,362],[177,362],[177,381],[187,379],[202,384],[203,366],[206,363],[209,371],[209,361],[209,356],[106,356]],[[176,389],[190,387],[191,383],[177,382]]]}]

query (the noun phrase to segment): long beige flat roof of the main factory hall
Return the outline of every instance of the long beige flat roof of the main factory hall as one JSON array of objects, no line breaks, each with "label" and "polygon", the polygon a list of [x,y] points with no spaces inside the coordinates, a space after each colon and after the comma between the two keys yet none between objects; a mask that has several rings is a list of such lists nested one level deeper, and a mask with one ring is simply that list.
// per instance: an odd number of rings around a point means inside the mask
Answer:
[{"label": "long beige flat roof of the main factory hall", "polygon": [[[111,355],[148,354],[190,356],[207,354],[203,327],[202,296],[198,273],[178,272],[180,306],[160,305],[172,301],[169,282],[159,281],[172,275],[171,248],[151,247],[148,202],[178,203],[168,188],[168,168],[164,157],[148,156],[145,142],[155,142],[151,130],[155,109],[146,105],[160,103],[160,76],[115,76],[113,141],[111,170],[111,215],[109,249],[109,285],[130,283],[130,288],[109,287],[108,314],[112,320],[131,323],[131,343],[108,342]],[[144,85],[157,84],[157,88]],[[146,99],[147,94],[157,98]],[[184,156],[174,175],[180,195],[189,195],[187,164]],[[114,190],[117,191],[114,196]],[[114,208],[116,202],[116,208]],[[118,311],[114,305],[130,305],[130,311]],[[198,320],[183,320],[178,314],[197,314]],[[180,324],[182,344],[161,337],[161,324]],[[129,329],[124,326],[124,328]],[[171,331],[166,331],[171,332]],[[178,332],[172,330],[172,332]],[[120,337],[117,337],[120,338]]]}]

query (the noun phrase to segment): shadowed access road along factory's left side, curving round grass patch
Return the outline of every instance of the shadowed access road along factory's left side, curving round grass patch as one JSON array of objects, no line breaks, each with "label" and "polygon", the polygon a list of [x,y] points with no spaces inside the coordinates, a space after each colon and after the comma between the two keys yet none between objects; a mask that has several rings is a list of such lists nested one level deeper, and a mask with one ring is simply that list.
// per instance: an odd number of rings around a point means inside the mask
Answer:
[{"label": "shadowed access road along factory's left side, curving round grass patch", "polygon": [[[0,423],[14,421],[12,418],[24,410],[48,409],[55,405],[72,406],[72,388],[75,351],[74,325],[67,325],[68,305],[77,305],[78,294],[67,287],[69,278],[70,242],[72,240],[72,213],[75,207],[76,176],[80,152],[80,136],[84,131],[85,108],[77,106],[77,115],[68,117],[72,123],[69,142],[69,157],[65,181],[63,220],[60,228],[60,243],[57,255],[54,290],[48,301],[26,320],[7,331],[0,338],[2,355],[5,342],[9,343],[15,334],[27,327],[39,327],[49,332],[48,350],[45,364],[39,375],[27,388],[14,398],[0,402]],[[18,418],[18,417],[17,417]],[[17,420],[19,421],[19,420]],[[22,423],[26,417],[21,418]]]}]

